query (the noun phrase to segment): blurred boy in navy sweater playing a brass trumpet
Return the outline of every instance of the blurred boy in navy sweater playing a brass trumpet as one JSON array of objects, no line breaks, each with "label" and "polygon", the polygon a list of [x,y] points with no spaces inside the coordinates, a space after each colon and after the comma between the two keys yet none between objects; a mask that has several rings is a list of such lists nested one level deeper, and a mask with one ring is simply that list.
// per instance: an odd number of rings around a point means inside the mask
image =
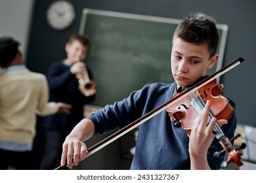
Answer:
[{"label": "blurred boy in navy sweater playing a brass trumpet", "polygon": [[95,99],[96,84],[84,62],[89,51],[89,40],[85,35],[72,35],[65,45],[65,51],[66,59],[51,64],[47,79],[50,100],[70,103],[72,110],[70,114],[45,118],[43,127],[47,137],[40,169],[54,169],[59,165],[65,137],[83,118],[84,105]]}]

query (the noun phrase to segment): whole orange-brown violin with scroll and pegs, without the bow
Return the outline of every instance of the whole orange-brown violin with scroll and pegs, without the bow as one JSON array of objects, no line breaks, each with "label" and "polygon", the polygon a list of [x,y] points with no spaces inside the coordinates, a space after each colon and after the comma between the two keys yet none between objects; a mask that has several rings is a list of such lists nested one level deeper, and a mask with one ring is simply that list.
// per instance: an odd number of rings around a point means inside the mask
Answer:
[{"label": "whole orange-brown violin with scroll and pegs, without the bow", "polygon": [[[218,84],[217,80],[214,79],[198,90],[187,93],[186,97],[177,101],[177,103],[174,103],[165,110],[168,112],[171,121],[181,123],[182,128],[186,131],[188,136],[190,136],[192,123],[196,119],[196,116],[201,114],[207,100],[211,101],[211,111],[209,112],[207,125],[214,116],[217,120],[228,120],[232,116],[234,108],[229,104],[228,99],[223,97],[222,88],[223,85]],[[242,152],[240,152],[239,149],[245,148],[245,144],[242,144],[238,149],[235,149],[231,143],[234,139],[230,141],[225,137],[219,124],[215,124],[213,133],[215,133],[215,137],[219,140],[221,146],[228,154],[228,159],[222,163],[222,167],[226,167],[230,162],[233,162],[236,167],[243,165],[241,161]],[[236,136],[236,138],[239,136],[240,135]],[[219,157],[219,152],[216,152],[215,158]]]}]

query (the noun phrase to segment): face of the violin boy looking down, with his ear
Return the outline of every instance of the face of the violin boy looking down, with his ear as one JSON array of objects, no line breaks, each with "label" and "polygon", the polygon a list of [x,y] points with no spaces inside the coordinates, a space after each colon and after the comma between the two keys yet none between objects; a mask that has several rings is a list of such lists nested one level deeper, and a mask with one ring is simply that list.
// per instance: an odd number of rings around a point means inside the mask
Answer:
[{"label": "face of the violin boy looking down, with his ear", "polygon": [[206,44],[198,45],[185,42],[180,38],[173,39],[171,51],[171,72],[178,86],[193,84],[198,78],[204,76],[207,69],[211,69],[218,55],[209,59]]}]

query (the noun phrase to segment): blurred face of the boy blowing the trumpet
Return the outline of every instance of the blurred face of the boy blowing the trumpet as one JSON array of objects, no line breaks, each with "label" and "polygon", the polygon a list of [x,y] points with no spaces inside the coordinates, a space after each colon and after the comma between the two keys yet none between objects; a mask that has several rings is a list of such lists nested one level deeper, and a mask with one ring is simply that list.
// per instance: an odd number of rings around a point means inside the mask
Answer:
[{"label": "blurred face of the boy blowing the trumpet", "polygon": [[67,52],[67,59],[70,64],[72,64],[75,63],[75,61],[83,61],[87,56],[88,48],[83,46],[81,42],[74,41],[66,44],[65,50]]}]

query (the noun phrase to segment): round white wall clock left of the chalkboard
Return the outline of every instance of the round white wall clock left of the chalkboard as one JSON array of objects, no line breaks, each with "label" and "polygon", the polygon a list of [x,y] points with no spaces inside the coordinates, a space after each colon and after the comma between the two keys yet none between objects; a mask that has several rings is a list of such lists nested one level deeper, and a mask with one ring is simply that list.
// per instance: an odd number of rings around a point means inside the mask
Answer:
[{"label": "round white wall clock left of the chalkboard", "polygon": [[70,1],[55,1],[47,10],[47,22],[56,30],[68,28],[75,20],[75,8]]}]

